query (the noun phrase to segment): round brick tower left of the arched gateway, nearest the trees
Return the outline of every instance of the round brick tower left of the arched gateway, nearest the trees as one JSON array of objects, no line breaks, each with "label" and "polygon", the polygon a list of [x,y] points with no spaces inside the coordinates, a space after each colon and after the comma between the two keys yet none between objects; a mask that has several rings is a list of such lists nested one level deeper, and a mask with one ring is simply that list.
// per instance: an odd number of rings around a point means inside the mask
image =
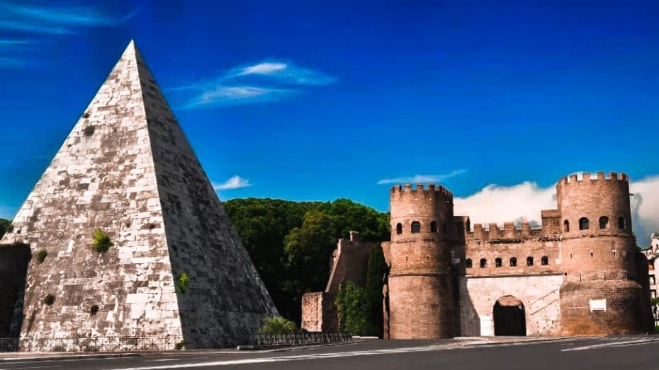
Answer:
[{"label": "round brick tower left of the arched gateway, nearest the trees", "polygon": [[390,339],[454,337],[454,287],[446,230],[453,195],[439,185],[390,192]]}]

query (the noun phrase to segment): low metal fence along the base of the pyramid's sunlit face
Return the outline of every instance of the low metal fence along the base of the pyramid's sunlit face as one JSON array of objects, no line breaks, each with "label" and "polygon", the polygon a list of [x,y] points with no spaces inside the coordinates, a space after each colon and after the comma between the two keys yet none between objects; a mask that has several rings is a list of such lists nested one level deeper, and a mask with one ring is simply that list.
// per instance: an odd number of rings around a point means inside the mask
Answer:
[{"label": "low metal fence along the base of the pyramid's sunlit face", "polygon": [[183,337],[0,338],[0,352],[126,352],[181,349]]}]

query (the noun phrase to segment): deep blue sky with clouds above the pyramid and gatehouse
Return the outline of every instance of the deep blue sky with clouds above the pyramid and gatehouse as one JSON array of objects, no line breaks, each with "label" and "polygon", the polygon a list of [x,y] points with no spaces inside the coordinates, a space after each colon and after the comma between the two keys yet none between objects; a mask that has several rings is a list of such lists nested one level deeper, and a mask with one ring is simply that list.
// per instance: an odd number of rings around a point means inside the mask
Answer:
[{"label": "deep blue sky with clouds above the pyramid and gatehouse", "polygon": [[135,37],[223,200],[386,210],[432,180],[503,222],[483,202],[617,170],[659,229],[657,1],[408,3],[0,0],[0,216]]}]

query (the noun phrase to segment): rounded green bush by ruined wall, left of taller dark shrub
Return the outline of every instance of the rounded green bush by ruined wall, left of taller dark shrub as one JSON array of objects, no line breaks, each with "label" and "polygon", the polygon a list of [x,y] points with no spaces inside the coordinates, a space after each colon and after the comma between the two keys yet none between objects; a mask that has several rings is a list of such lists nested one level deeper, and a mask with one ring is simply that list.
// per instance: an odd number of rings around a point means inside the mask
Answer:
[{"label": "rounded green bush by ruined wall, left of taller dark shrub", "polygon": [[364,289],[352,282],[342,285],[334,304],[339,315],[339,330],[353,335],[367,335],[370,331],[364,304]]}]

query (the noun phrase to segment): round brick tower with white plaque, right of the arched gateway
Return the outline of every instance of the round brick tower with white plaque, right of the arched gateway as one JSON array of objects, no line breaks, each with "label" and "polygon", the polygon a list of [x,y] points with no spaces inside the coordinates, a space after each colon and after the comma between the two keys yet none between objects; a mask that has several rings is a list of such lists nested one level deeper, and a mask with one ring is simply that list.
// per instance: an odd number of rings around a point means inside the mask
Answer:
[{"label": "round brick tower with white plaque, right of the arched gateway", "polygon": [[563,335],[643,333],[627,176],[570,175],[556,185],[556,197],[563,227]]}]

